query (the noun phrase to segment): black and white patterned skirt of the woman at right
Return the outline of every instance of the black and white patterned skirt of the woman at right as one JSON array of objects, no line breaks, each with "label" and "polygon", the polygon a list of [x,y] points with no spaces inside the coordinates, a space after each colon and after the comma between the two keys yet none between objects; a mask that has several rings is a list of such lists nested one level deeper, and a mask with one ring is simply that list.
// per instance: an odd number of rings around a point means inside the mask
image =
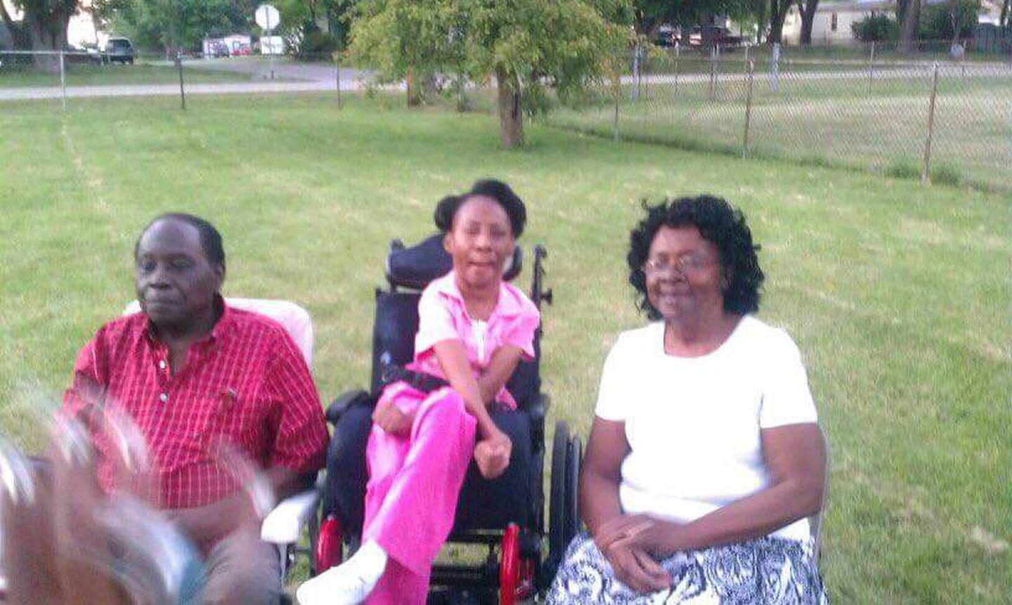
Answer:
[{"label": "black and white patterned skirt of the woman at right", "polygon": [[616,580],[590,534],[576,536],[559,568],[547,603],[691,605],[827,605],[811,542],[764,537],[685,550],[660,561],[671,586],[634,592]]}]

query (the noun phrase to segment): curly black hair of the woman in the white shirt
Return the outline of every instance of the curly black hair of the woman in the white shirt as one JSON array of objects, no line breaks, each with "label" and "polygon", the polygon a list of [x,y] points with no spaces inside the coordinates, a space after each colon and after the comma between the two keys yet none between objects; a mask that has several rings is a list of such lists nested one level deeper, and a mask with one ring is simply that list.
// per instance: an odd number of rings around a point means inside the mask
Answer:
[{"label": "curly black hair of the woman in the white shirt", "polygon": [[643,208],[647,218],[629,233],[629,283],[639,292],[637,307],[646,311],[652,320],[661,319],[647,297],[647,275],[643,265],[650,256],[650,245],[662,227],[695,227],[703,239],[712,242],[721,256],[721,270],[725,276],[724,310],[745,315],[759,310],[759,288],[765,277],[759,268],[756,252],[758,244],[752,242],[752,231],[745,223],[745,215],[728,200],[712,195],[665,199],[650,205],[645,199]]}]

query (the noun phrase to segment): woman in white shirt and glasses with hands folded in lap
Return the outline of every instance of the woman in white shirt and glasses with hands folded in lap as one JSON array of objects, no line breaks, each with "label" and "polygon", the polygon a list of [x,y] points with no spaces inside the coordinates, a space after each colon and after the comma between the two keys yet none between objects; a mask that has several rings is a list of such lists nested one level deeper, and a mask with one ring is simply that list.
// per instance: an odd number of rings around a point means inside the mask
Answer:
[{"label": "woman in white shirt and glasses with hands folded in lap", "polygon": [[580,478],[589,531],[549,603],[823,604],[806,518],[826,452],[797,347],[751,315],[758,246],[724,199],[646,209],[629,282],[655,322],[605,361]]}]

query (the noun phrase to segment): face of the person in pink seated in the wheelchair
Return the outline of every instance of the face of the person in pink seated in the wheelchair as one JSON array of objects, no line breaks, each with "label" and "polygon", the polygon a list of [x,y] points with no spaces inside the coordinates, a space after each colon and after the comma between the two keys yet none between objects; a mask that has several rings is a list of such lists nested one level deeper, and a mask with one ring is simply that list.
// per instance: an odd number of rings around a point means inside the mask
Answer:
[{"label": "face of the person in pink seated in the wheelchair", "polygon": [[453,270],[463,285],[485,288],[497,284],[515,241],[506,210],[491,197],[475,195],[460,204],[453,226],[443,238],[453,258]]}]

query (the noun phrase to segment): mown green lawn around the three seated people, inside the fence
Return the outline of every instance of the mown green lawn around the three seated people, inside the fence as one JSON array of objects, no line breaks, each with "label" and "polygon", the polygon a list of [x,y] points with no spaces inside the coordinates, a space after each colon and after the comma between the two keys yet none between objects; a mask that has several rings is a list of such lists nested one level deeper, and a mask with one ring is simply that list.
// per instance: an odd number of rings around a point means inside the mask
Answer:
[{"label": "mown green lawn around the three seated people, inside the fence", "polygon": [[429,234],[442,195],[492,175],[527,201],[522,243],[550,251],[544,390],[552,419],[586,435],[605,353],[644,323],[623,268],[639,200],[708,191],[763,245],[759,315],[796,340],[829,435],[831,598],[1008,602],[1012,198],[543,126],[507,152],[489,115],[400,102],[0,104],[4,432],[40,446],[25,402],[58,398],[131,299],[135,238],[166,210],[222,230],[226,293],[310,310],[323,397],[364,384],[388,241]]}]

